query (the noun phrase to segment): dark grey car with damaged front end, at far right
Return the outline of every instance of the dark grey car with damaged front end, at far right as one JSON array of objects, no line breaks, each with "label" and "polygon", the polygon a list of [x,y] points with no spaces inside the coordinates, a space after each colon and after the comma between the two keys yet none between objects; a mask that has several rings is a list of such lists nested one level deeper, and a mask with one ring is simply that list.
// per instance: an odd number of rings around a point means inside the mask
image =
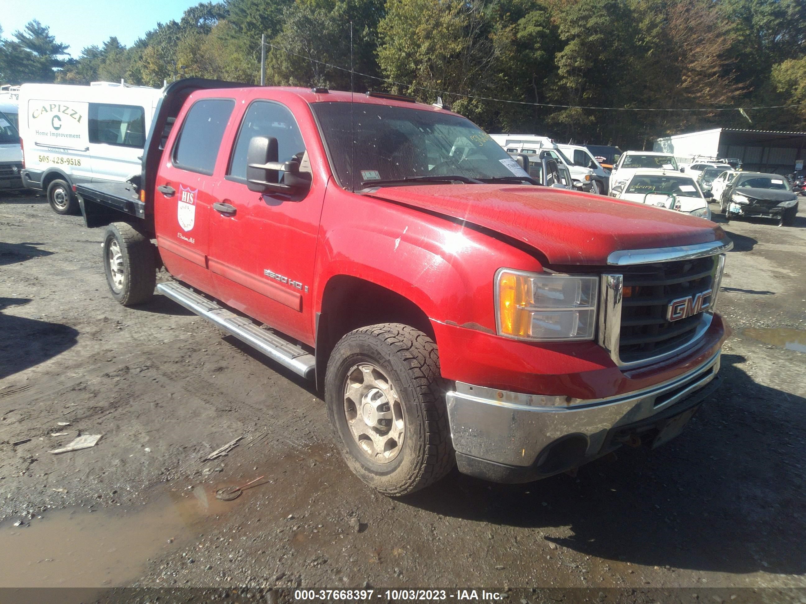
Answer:
[{"label": "dark grey car with damaged front end, at far right", "polygon": [[779,226],[791,226],[798,213],[798,196],[780,174],[740,172],[721,197],[725,218],[775,218]]}]

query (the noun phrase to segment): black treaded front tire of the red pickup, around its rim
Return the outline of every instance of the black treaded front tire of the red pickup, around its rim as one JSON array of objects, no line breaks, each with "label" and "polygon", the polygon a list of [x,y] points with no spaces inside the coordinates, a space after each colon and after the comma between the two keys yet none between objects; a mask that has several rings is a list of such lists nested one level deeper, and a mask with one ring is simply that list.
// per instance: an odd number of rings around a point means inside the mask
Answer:
[{"label": "black treaded front tire of the red pickup, around its rim", "polygon": [[[348,372],[374,363],[399,395],[405,438],[393,461],[379,464],[356,443],[347,424],[344,389]],[[399,496],[437,482],[455,465],[439,373],[437,346],[425,333],[400,323],[355,329],[335,345],[325,376],[327,415],[334,440],[352,472],[382,494]]]}]

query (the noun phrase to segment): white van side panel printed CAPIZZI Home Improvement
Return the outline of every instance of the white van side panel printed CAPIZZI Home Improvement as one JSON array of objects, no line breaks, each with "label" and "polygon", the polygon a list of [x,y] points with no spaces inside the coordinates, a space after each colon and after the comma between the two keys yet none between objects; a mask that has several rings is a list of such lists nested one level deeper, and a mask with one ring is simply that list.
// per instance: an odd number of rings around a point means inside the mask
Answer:
[{"label": "white van side panel printed CAPIZZI Home Improvement", "polygon": [[[92,180],[87,132],[89,104],[73,101],[31,99],[27,114],[25,168],[47,172],[56,168],[73,183]],[[39,178],[35,180],[39,181]]]}]

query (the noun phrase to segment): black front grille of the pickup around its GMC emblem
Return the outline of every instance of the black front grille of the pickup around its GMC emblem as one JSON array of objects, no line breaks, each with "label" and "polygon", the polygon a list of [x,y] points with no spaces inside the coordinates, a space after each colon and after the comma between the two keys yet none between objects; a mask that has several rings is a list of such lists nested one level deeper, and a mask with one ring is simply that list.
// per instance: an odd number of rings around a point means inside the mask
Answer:
[{"label": "black front grille of the pickup around its GMC emblem", "polygon": [[[700,325],[697,312],[677,321],[667,319],[673,300],[713,288],[717,256],[625,267],[621,299],[618,356],[622,363],[639,362],[685,344]],[[711,298],[705,298],[708,304]]]}]

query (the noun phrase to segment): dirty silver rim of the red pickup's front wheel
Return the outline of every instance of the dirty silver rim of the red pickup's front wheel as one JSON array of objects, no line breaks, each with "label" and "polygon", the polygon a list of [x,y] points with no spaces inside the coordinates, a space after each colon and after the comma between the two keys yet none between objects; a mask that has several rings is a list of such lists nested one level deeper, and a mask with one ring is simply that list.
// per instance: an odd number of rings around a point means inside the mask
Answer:
[{"label": "dirty silver rim of the red pickup's front wheel", "polygon": [[403,449],[403,405],[379,366],[361,362],[347,371],[344,416],[359,449],[372,461],[387,464]]}]

